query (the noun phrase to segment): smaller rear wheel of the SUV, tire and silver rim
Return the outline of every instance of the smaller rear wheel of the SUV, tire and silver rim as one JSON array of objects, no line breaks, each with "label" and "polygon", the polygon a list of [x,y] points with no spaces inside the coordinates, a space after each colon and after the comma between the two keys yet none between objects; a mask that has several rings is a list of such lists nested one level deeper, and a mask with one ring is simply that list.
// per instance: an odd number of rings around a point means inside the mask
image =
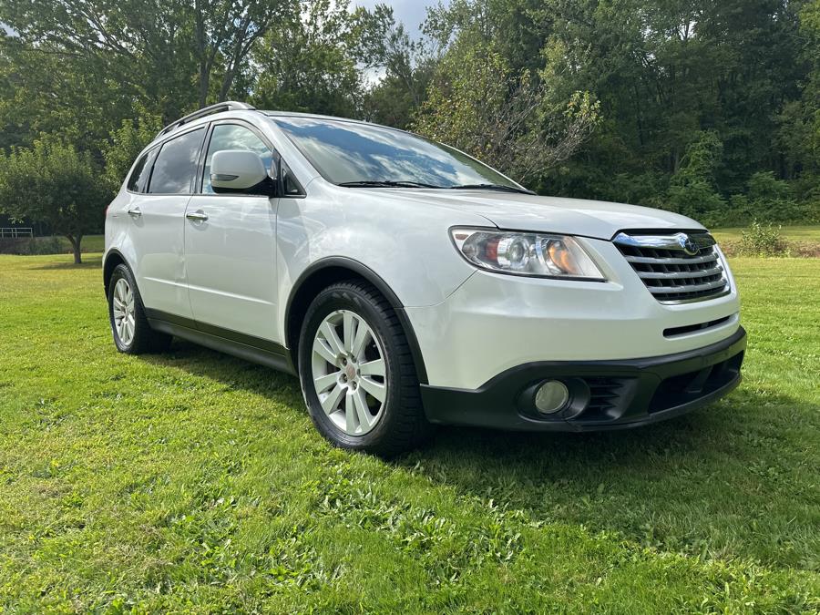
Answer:
[{"label": "smaller rear wheel of the SUV, tire and silver rim", "polygon": [[120,353],[161,353],[169,348],[171,336],[151,329],[137,282],[124,264],[117,265],[108,282],[108,320]]}]

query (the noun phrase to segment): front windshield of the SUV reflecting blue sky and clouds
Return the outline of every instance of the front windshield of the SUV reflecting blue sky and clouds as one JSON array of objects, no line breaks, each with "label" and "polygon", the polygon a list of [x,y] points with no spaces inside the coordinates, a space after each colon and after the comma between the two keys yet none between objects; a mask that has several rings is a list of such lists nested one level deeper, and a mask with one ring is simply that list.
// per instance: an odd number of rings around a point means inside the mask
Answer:
[{"label": "front windshield of the SUV reflecting blue sky and clouds", "polygon": [[321,118],[277,117],[276,124],[334,184],[399,183],[432,188],[513,181],[475,159],[393,128]]}]

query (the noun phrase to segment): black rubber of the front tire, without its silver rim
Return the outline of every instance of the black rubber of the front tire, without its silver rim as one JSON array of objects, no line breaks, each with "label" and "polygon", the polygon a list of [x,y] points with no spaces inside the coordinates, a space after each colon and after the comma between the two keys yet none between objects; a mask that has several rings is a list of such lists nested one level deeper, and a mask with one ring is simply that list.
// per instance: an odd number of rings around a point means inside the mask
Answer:
[{"label": "black rubber of the front tire, without its silver rim", "polygon": [[[374,428],[363,436],[350,436],[333,424],[325,415],[319,402],[319,395],[313,386],[313,337],[329,313],[338,310],[349,310],[364,318],[374,332],[384,354],[385,381],[387,398],[383,415]],[[350,449],[370,450],[387,445],[393,432],[393,423],[401,404],[401,364],[396,355],[395,331],[387,322],[384,311],[353,285],[337,285],[320,292],[313,300],[305,314],[302,334],[299,343],[299,376],[302,383],[302,395],[313,423],[323,436],[333,444]]]}]

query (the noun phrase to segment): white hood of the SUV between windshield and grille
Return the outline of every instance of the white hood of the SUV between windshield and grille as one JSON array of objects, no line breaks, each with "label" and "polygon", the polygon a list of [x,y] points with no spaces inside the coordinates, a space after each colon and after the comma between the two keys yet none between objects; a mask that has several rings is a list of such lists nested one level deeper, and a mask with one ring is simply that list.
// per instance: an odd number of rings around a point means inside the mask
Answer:
[{"label": "white hood of the SUV between windshield and grille", "polygon": [[501,190],[406,190],[419,204],[469,211],[499,229],[555,232],[610,240],[624,230],[702,230],[701,224],[670,211],[602,200],[564,199],[516,194]]}]

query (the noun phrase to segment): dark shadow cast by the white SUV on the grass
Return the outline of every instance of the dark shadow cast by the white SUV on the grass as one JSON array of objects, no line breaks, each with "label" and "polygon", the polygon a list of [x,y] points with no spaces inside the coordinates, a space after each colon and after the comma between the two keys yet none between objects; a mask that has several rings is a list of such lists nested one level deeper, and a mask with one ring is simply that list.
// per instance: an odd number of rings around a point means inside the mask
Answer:
[{"label": "dark shadow cast by the white SUV on the grass", "polygon": [[[207,376],[306,414],[298,380],[191,343],[144,360]],[[587,434],[439,427],[397,468],[538,523],[614,531],[693,557],[816,569],[812,425],[820,406],[752,390],[655,425]],[[318,433],[316,438],[320,438]],[[813,495],[814,494],[814,495]]]}]

